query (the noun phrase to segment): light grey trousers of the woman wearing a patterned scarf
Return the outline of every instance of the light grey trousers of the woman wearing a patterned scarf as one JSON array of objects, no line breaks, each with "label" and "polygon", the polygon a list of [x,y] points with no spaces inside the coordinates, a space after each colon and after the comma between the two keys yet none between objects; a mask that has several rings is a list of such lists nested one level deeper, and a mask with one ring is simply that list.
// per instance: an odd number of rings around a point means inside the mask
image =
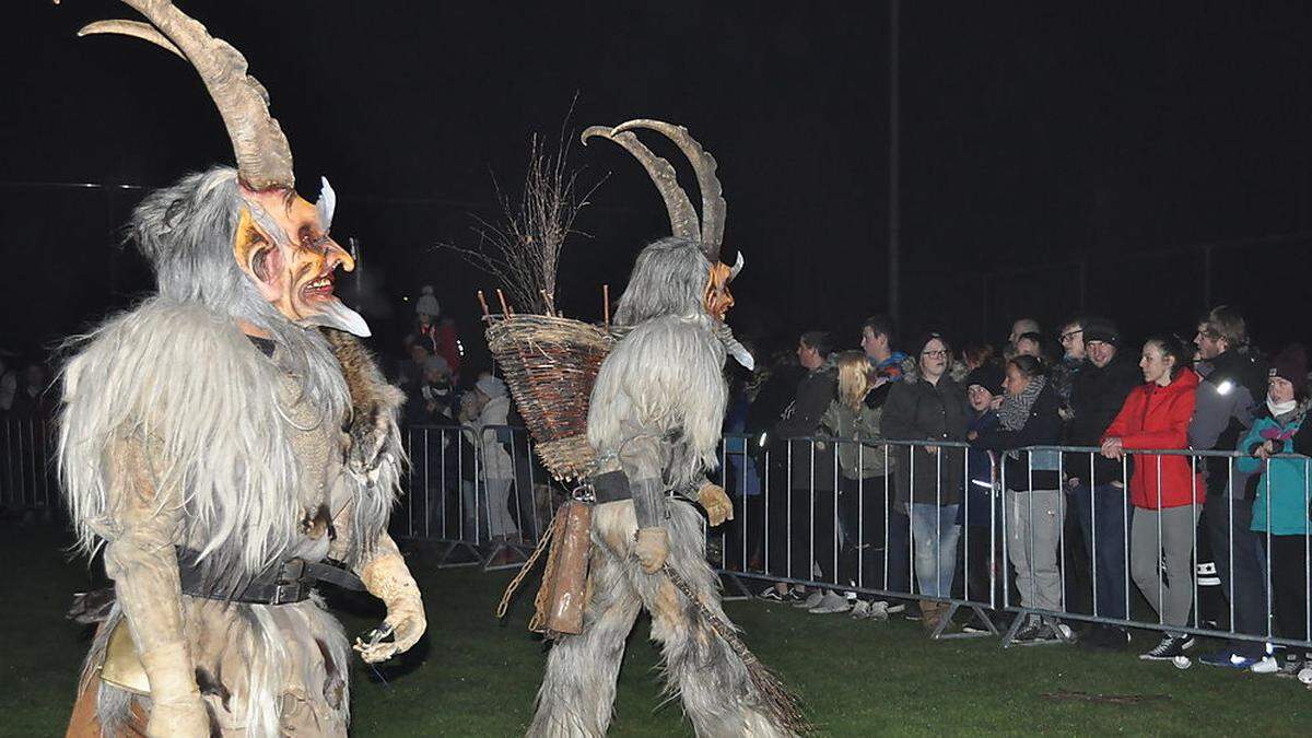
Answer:
[{"label": "light grey trousers of the woman wearing a patterned scarf", "polygon": [[1061,609],[1061,570],[1057,546],[1065,504],[1059,490],[1008,491],[1006,555],[1015,567],[1021,607]]}]

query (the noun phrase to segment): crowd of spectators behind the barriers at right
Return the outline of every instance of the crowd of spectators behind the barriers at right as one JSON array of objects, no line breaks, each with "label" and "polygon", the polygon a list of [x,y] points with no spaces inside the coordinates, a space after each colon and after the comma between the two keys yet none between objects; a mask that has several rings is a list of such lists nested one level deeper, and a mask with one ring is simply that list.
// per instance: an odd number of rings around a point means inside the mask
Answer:
[{"label": "crowd of spectators behind the barriers at right", "polygon": [[[732,382],[727,485],[748,510],[737,524],[756,523],[727,549],[785,580],[762,597],[1099,649],[1124,649],[1130,621],[1147,621],[1151,661],[1191,654],[1193,626],[1232,629],[1248,638],[1200,661],[1312,668],[1262,638],[1312,640],[1302,345],[1269,360],[1225,306],[1193,340],[1128,344],[1109,319],[1075,318],[1051,335],[1056,356],[1033,319],[1000,351],[926,334],[908,355],[897,340],[880,315],[861,351],[808,331],[795,362]],[[1006,622],[1004,587],[1038,612]],[[956,622],[953,599],[993,608]]]}]

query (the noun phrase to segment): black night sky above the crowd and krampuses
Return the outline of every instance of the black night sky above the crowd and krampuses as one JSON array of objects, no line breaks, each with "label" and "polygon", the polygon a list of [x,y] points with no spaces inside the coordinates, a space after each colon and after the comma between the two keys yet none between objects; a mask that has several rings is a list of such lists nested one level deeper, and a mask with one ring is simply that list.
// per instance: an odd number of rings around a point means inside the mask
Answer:
[{"label": "black night sky above the crowd and krampuses", "polygon": [[[379,348],[419,285],[479,344],[474,290],[440,240],[472,243],[516,190],[534,131],[656,117],[720,162],[727,239],[748,256],[740,334],[828,327],[855,345],[886,309],[888,8],[808,3],[184,3],[237,46],[289,134],[302,193],[327,173],[335,235],[361,239]],[[148,292],[117,246],[136,188],[230,162],[194,71],[144,42],[76,39],[134,17],[108,0],[8,3],[0,24],[0,345],[39,355]],[[1193,335],[1244,307],[1269,348],[1305,339],[1312,139],[1307,3],[904,3],[903,323],[1005,339],[1084,309]],[[652,139],[655,142],[655,139]],[[668,152],[676,165],[686,168]],[[558,302],[597,316],[638,247],[665,235],[638,164],[565,247]],[[694,201],[698,201],[695,190]],[[1203,246],[1211,244],[1211,246]],[[370,297],[371,295],[371,297]],[[471,345],[471,348],[474,348]]]}]

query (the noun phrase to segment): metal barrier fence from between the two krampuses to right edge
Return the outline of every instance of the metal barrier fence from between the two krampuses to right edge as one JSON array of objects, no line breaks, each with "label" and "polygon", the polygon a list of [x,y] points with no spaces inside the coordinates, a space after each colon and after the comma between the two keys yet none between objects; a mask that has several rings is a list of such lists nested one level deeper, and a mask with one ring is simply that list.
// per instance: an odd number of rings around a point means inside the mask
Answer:
[{"label": "metal barrier fence from between the two krampuses to right edge", "polygon": [[[517,566],[568,494],[523,428],[416,427],[407,444],[411,494],[396,531],[442,545],[442,566]],[[1089,446],[743,435],[726,435],[720,457],[712,479],[733,498],[735,520],[708,531],[707,555],[740,595],[754,582],[942,603],[934,637],[996,633],[1004,645],[1038,619],[1312,650],[1307,457],[1126,450],[1109,473]],[[1300,473],[1300,488],[1274,474],[1261,477],[1263,490],[1236,487],[1241,466],[1271,462]],[[1206,466],[1224,467],[1224,496],[1207,496]],[[1138,499],[1136,467],[1155,490]],[[1187,490],[1170,485],[1181,473]],[[1206,515],[1221,521],[1203,525]],[[1252,531],[1254,515],[1279,520],[1277,531]],[[959,609],[980,633],[950,632]]]}]

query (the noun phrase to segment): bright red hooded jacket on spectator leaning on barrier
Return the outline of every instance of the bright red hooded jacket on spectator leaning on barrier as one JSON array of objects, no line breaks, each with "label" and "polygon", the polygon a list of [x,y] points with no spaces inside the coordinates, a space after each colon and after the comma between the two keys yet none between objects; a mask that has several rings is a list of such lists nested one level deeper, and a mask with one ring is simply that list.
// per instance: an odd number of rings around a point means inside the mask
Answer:
[{"label": "bright red hooded jacket on spectator leaning on barrier", "polygon": [[[1165,387],[1139,385],[1102,437],[1120,439],[1127,450],[1185,449],[1197,393],[1198,374],[1193,369],[1182,370]],[[1206,492],[1202,474],[1190,473],[1187,456],[1136,454],[1135,473],[1130,478],[1130,502],[1135,507],[1158,510],[1202,503]]]}]

